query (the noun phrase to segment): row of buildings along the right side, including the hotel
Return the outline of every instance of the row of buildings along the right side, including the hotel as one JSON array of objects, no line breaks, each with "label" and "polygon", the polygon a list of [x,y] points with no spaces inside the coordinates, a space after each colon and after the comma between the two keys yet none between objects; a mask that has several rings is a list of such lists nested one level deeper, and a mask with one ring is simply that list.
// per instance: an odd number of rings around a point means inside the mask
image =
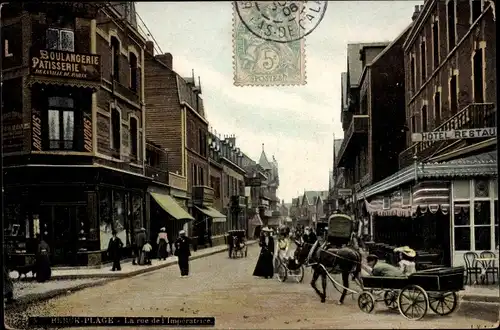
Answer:
[{"label": "row of buildings along the right side, including the hotel", "polygon": [[425,1],[395,40],[347,45],[326,214],[442,265],[498,250],[495,19],[491,1]]}]

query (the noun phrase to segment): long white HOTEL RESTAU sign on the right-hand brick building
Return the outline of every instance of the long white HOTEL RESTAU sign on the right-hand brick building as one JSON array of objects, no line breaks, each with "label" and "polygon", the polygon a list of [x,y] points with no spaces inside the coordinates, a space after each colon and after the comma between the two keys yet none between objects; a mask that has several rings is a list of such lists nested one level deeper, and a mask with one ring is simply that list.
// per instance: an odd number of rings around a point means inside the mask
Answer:
[{"label": "long white HOTEL RESTAU sign on the right-hand brick building", "polygon": [[486,127],[486,128],[457,129],[451,131],[413,133],[411,135],[411,140],[413,142],[430,142],[430,141],[444,141],[444,140],[457,140],[457,139],[489,138],[495,136],[497,136],[496,127]]}]

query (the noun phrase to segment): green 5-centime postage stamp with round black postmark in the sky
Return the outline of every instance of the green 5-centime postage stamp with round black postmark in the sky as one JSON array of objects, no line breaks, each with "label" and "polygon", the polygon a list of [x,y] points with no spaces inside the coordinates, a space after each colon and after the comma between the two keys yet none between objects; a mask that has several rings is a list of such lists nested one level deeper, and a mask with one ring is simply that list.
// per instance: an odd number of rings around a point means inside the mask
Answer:
[{"label": "green 5-centime postage stamp with round black postmark in the sky", "polygon": [[[282,3],[296,2],[299,1]],[[295,13],[290,10],[290,14],[297,16],[298,6],[292,5],[292,9],[295,8]],[[300,37],[298,21],[293,21],[286,27],[267,24],[268,19],[271,19],[271,22],[276,20],[263,14],[264,9],[274,13],[279,9],[279,5],[276,2],[263,1],[233,3],[234,85],[305,85],[304,38]],[[293,31],[296,32],[297,38],[294,38]]]}]

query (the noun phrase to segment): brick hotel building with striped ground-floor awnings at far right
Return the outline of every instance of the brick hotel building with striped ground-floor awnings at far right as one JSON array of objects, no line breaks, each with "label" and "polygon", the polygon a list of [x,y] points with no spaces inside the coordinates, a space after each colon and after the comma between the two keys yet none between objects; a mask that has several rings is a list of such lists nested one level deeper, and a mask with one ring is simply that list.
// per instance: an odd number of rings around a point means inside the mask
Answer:
[{"label": "brick hotel building with striped ground-floor awnings at far right", "polygon": [[397,230],[406,245],[460,265],[464,252],[498,246],[496,137],[411,140],[415,133],[496,126],[494,7],[481,0],[428,0],[413,18],[404,43],[407,149],[399,171],[362,195],[372,213],[418,218],[412,228],[404,219],[391,228],[375,221],[379,241],[396,244],[390,233]]}]

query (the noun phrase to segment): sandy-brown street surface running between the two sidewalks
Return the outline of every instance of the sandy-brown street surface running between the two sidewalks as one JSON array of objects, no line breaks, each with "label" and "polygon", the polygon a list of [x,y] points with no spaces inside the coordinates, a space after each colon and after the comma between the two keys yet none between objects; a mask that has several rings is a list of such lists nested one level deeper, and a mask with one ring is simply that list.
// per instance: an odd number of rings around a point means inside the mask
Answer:
[{"label": "sandy-brown street surface running between the two sidewalks", "polygon": [[465,301],[450,316],[429,311],[421,321],[408,321],[383,303],[365,314],[357,297],[336,305],[340,294],[330,283],[327,302],[322,304],[309,285],[310,270],[300,284],[253,277],[258,253],[254,245],[247,258],[229,259],[220,253],[194,260],[188,278],[180,278],[177,267],[168,267],[116,280],[22,311],[7,310],[6,321],[19,329],[27,327],[29,316],[214,316],[216,327],[225,329],[431,329],[485,328],[498,320],[497,304]]}]

